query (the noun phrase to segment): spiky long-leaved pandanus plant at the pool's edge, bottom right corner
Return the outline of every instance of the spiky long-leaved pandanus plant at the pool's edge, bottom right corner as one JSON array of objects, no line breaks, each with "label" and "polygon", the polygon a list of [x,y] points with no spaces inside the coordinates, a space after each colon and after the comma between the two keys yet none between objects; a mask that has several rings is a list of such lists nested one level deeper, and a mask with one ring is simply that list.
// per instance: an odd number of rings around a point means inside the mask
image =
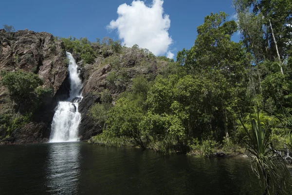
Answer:
[{"label": "spiky long-leaved pandanus plant at the pool's edge, bottom right corner", "polygon": [[244,124],[244,119],[239,120],[246,132],[245,142],[251,158],[252,170],[258,177],[260,185],[264,184],[263,195],[268,193],[282,195],[291,177],[283,156],[269,140],[269,129],[263,127],[257,108],[255,113],[255,115],[249,114],[250,129]]}]

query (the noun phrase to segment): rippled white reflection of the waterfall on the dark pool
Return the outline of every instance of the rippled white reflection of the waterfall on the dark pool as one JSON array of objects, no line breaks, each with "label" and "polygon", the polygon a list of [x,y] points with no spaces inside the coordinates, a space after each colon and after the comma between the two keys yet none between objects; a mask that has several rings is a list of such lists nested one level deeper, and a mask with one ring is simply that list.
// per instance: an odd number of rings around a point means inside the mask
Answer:
[{"label": "rippled white reflection of the waterfall on the dark pool", "polygon": [[80,145],[49,145],[47,159],[47,192],[54,195],[76,194],[80,175]]}]

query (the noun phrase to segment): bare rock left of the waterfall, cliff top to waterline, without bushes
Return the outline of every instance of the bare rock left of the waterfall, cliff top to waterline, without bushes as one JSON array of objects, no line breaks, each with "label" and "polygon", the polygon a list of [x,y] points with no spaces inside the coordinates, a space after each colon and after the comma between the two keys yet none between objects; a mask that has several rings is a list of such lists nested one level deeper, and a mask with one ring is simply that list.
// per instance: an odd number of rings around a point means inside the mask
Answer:
[{"label": "bare rock left of the waterfall, cliff top to waterline, without bushes", "polygon": [[[67,69],[64,46],[61,41],[55,41],[53,35],[27,30],[16,33],[0,30],[0,71],[34,72],[42,78],[43,87],[52,89],[54,95],[46,108],[34,117],[33,123],[14,130],[8,138],[9,142],[46,141],[54,106],[59,99],[68,96]],[[0,115],[3,114],[18,115],[18,106],[10,98],[9,91],[0,83]],[[0,128],[0,137],[4,134]]]}]

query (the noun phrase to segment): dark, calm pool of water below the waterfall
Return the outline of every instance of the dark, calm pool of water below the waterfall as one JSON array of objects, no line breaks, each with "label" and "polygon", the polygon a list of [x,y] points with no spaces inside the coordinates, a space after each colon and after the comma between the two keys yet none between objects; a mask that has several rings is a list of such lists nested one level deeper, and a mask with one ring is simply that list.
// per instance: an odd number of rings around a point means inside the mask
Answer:
[{"label": "dark, calm pool of water below the waterfall", "polygon": [[88,143],[0,146],[0,195],[253,195],[248,160]]}]

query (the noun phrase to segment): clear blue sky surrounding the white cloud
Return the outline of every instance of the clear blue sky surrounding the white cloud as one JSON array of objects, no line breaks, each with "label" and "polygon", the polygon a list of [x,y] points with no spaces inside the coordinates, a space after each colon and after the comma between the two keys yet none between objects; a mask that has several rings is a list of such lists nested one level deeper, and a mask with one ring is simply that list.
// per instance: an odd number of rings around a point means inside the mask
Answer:
[{"label": "clear blue sky surrounding the white cloud", "polygon": [[[107,26],[111,20],[118,18],[118,7],[123,3],[130,5],[131,2],[132,0],[3,0],[0,24],[13,25],[16,30],[27,28],[36,32],[45,31],[61,37],[87,37],[90,41],[105,36],[119,39],[116,29],[121,25],[113,30],[109,30]],[[144,2],[147,6],[152,4],[152,0]],[[166,30],[169,35],[166,38],[172,39],[172,43],[166,47],[167,51],[174,54],[183,48],[192,47],[197,35],[196,28],[203,23],[206,15],[219,11],[224,11],[230,16],[235,14],[232,0],[164,0],[162,6],[164,14],[169,15],[170,19],[170,27]],[[235,35],[233,39],[237,41],[239,35]],[[162,40],[163,42],[165,41]],[[160,45],[159,43],[157,47]],[[165,47],[162,51],[164,49]],[[155,53],[164,55],[161,51]]]}]

